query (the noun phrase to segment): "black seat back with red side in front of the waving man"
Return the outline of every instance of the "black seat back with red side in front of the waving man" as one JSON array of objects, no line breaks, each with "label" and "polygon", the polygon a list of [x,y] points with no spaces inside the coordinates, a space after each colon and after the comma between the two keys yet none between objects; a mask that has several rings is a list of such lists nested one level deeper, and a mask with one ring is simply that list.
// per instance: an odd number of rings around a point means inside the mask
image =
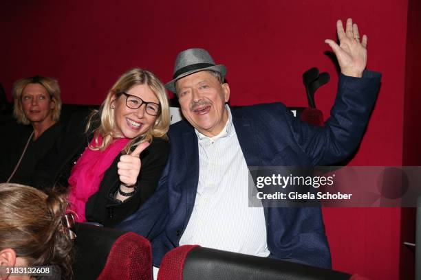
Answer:
[{"label": "black seat back with red side in front of the waving man", "polygon": [[325,280],[365,279],[358,275],[267,257],[204,248],[177,247],[164,256],[158,280]]}]

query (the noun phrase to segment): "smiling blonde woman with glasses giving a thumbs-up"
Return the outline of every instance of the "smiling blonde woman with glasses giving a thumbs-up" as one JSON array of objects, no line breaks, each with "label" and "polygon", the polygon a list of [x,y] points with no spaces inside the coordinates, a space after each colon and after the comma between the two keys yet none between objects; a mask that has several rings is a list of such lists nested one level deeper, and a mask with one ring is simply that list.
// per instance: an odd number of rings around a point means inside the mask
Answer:
[{"label": "smiling blonde woman with glasses giving a thumbs-up", "polygon": [[89,119],[91,141],[69,177],[78,222],[114,226],[155,191],[169,154],[169,102],[164,86],[131,69],[112,86]]}]

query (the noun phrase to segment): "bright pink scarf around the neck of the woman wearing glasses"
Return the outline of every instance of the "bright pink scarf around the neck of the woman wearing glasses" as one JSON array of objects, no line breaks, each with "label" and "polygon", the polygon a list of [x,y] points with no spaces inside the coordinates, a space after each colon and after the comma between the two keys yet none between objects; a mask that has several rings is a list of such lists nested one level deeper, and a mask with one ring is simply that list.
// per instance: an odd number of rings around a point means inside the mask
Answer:
[{"label": "bright pink scarf around the neck of the woman wearing glasses", "polygon": [[[127,138],[117,139],[103,151],[86,148],[74,165],[69,178],[69,208],[76,212],[76,222],[86,222],[85,206],[88,198],[98,191],[105,172],[129,141]],[[98,144],[101,143],[102,137],[98,135]],[[95,137],[89,145],[96,146]]]}]

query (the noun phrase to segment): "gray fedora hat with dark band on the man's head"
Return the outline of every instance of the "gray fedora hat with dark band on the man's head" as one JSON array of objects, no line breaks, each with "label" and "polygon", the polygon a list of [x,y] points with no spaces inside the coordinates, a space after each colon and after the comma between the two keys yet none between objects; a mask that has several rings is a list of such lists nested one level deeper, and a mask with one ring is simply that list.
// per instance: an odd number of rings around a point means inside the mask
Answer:
[{"label": "gray fedora hat with dark band on the man's head", "polygon": [[204,70],[217,71],[221,73],[223,78],[226,75],[226,67],[224,65],[215,65],[206,49],[186,49],[175,58],[173,80],[167,82],[165,87],[169,91],[177,93],[175,82],[178,79]]}]

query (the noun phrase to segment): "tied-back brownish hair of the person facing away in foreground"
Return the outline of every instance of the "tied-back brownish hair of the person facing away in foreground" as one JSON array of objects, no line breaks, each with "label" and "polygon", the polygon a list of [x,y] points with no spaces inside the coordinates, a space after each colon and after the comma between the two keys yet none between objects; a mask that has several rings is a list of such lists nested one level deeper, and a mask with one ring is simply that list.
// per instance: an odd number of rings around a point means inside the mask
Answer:
[{"label": "tied-back brownish hair of the person facing away in foreground", "polygon": [[12,248],[28,266],[56,265],[72,275],[72,241],[63,231],[63,196],[19,184],[0,184],[0,250]]}]

